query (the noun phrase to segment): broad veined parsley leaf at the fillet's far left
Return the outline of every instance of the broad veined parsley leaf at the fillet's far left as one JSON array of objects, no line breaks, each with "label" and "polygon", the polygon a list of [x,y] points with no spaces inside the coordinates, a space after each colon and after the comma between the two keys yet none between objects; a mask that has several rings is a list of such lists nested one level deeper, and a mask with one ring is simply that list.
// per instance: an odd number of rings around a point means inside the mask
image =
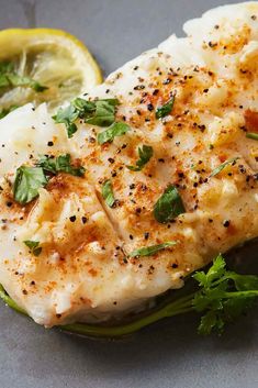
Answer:
[{"label": "broad veined parsley leaf at the fillet's far left", "polygon": [[13,185],[15,201],[21,204],[31,202],[38,196],[38,189],[46,186],[47,181],[42,167],[19,167]]}]

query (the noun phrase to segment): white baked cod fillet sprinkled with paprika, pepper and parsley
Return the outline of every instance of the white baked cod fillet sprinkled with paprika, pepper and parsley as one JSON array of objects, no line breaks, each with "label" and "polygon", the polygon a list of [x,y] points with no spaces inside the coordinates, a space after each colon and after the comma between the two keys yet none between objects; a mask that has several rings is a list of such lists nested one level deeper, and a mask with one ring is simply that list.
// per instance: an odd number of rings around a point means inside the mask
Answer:
[{"label": "white baked cod fillet sprinkled with paprika, pepper and parsley", "polygon": [[0,282],[40,324],[139,311],[258,236],[258,2],[184,31],[63,123],[44,104],[0,121]]}]

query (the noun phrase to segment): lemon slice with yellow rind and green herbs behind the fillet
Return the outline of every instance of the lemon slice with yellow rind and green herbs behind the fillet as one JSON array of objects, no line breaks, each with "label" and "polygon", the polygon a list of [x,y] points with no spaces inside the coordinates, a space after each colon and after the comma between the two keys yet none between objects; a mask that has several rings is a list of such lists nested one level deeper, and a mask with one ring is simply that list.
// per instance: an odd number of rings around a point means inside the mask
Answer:
[{"label": "lemon slice with yellow rind and green herbs behind the fillet", "polygon": [[0,48],[0,118],[27,102],[54,111],[102,81],[88,48],[60,30],[3,30]]}]

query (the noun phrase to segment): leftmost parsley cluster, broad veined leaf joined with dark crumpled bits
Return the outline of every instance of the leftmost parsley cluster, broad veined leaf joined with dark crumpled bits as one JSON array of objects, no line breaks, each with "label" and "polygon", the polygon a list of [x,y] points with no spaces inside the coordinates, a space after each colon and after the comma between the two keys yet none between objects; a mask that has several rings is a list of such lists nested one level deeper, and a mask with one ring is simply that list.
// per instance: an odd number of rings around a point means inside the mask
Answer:
[{"label": "leftmost parsley cluster, broad veined leaf joined with dark crumpled bits", "polygon": [[25,204],[38,196],[38,189],[45,187],[52,175],[67,173],[81,177],[85,168],[74,167],[70,164],[70,155],[65,154],[56,158],[43,156],[35,167],[21,166],[16,169],[13,185],[13,197],[16,202]]}]

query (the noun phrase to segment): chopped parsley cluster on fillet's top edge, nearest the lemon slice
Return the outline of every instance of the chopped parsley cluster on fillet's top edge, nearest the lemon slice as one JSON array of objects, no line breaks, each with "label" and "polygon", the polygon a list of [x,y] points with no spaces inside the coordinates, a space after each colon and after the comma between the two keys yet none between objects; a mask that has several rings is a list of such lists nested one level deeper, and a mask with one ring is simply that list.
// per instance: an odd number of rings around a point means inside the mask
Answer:
[{"label": "chopped parsley cluster on fillet's top edge, nearest the lemon slice", "polygon": [[72,137],[78,130],[76,120],[81,119],[87,124],[109,126],[115,121],[115,109],[119,104],[116,99],[102,99],[88,101],[82,98],[76,98],[67,108],[59,108],[55,122],[64,123],[67,129],[68,137]]}]

